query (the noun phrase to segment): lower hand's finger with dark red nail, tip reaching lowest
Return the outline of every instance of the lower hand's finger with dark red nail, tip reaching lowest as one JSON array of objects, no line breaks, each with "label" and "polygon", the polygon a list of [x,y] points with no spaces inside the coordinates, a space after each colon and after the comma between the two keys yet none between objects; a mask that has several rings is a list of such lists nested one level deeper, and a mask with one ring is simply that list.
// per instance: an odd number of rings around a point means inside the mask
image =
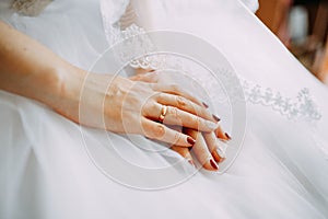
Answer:
[{"label": "lower hand's finger with dark red nail, tip reaching lowest", "polygon": [[202,166],[210,171],[218,171],[219,166],[209,151],[202,134],[192,129],[186,129],[185,132],[196,139],[191,151]]}]

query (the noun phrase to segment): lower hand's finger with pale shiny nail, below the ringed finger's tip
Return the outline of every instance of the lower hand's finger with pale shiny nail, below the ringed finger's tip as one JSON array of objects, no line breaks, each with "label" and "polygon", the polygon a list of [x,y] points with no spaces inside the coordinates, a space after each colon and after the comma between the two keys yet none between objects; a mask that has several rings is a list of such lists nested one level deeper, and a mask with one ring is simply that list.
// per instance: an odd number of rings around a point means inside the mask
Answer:
[{"label": "lower hand's finger with pale shiny nail, below the ringed finger's tip", "polygon": [[203,138],[214,160],[216,162],[223,162],[226,158],[225,149],[221,146],[223,142],[216,138],[214,132],[203,134]]}]

